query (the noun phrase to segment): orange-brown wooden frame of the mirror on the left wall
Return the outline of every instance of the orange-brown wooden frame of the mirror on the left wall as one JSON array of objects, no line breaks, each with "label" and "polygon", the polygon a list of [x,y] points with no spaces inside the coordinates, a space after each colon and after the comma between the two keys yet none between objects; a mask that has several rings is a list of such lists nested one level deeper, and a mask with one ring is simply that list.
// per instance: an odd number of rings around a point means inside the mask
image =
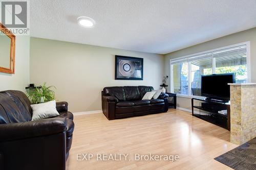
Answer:
[{"label": "orange-brown wooden frame of the mirror on the left wall", "polygon": [[0,31],[7,35],[11,39],[11,51],[10,51],[10,67],[5,68],[0,65],[0,72],[5,72],[8,74],[14,74],[15,72],[15,42],[16,36],[8,30],[1,22],[0,22]]}]

